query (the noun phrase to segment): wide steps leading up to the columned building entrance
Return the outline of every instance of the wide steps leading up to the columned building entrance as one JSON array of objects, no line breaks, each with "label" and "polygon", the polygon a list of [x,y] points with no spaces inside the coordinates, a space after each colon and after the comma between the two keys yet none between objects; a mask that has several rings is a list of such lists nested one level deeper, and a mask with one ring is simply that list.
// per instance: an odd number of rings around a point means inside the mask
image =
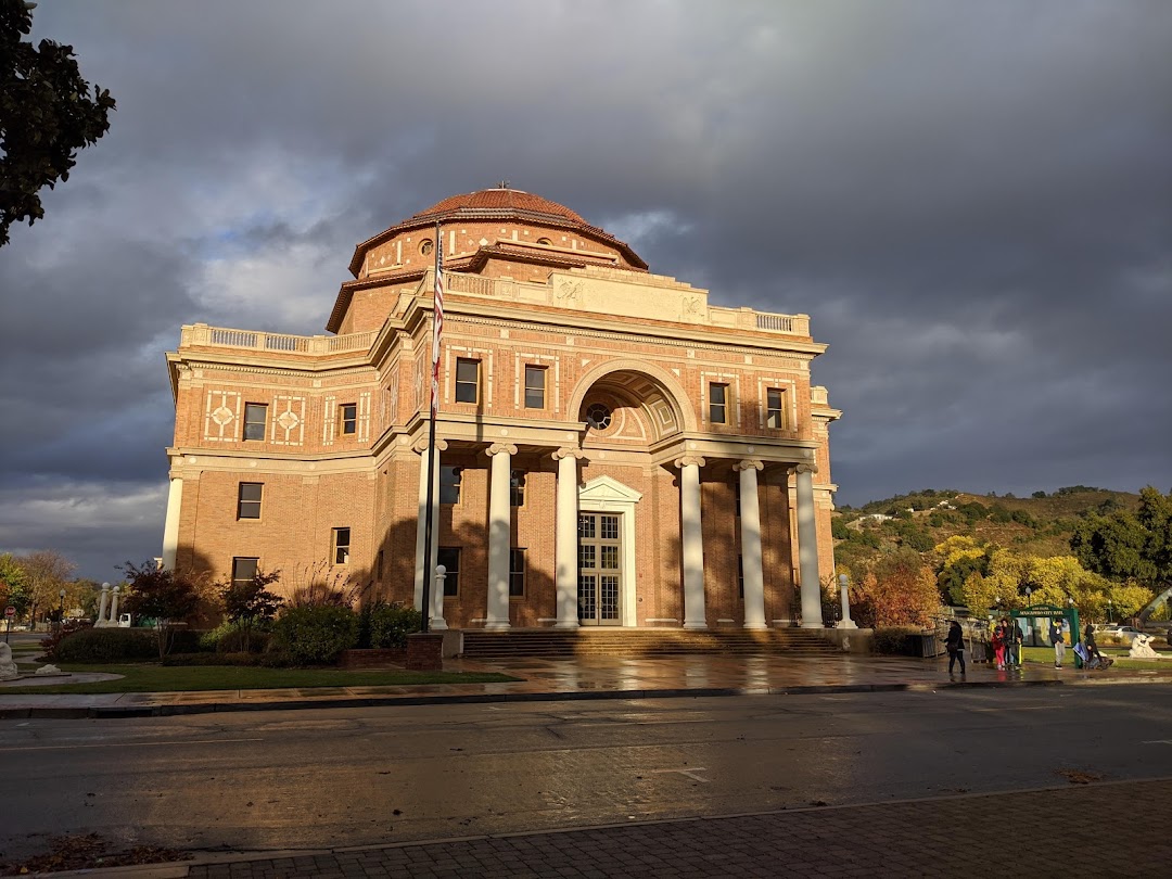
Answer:
[{"label": "wide steps leading up to the columned building entrance", "polygon": [[683,629],[510,629],[464,632],[468,659],[526,656],[675,656],[687,654],[838,656],[841,650],[817,632],[768,629],[750,632],[687,632]]}]

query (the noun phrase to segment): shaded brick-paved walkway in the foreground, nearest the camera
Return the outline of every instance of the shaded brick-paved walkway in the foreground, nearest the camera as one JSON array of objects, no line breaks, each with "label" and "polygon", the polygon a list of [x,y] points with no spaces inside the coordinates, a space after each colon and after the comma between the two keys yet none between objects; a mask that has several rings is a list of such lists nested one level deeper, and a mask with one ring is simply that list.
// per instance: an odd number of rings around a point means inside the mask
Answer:
[{"label": "shaded brick-paved walkway in the foreground, nearest the camera", "polygon": [[189,877],[1138,877],[1172,870],[1172,779],[195,865]]}]

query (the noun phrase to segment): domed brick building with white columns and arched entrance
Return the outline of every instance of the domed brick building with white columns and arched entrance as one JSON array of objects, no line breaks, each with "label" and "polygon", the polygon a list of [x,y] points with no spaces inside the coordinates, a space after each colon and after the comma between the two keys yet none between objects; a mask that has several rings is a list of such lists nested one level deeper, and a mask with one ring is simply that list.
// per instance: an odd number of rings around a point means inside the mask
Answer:
[{"label": "domed brick building with white columns and arched entrance", "polygon": [[505,188],[357,245],[331,335],[183,327],[164,565],[421,605],[437,231],[432,626],[820,625],[839,411],[808,316],[709,305]]}]

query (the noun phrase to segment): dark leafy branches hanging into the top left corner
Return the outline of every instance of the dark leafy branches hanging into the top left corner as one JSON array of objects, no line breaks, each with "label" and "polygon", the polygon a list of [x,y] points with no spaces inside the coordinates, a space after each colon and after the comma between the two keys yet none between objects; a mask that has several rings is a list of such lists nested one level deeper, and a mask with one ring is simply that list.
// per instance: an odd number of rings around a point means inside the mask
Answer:
[{"label": "dark leafy branches hanging into the top left corner", "polygon": [[25,0],[0,0],[0,247],[8,227],[45,216],[39,192],[69,179],[77,150],[110,128],[114,98],[81,77],[73,47],[52,40],[33,46]]}]

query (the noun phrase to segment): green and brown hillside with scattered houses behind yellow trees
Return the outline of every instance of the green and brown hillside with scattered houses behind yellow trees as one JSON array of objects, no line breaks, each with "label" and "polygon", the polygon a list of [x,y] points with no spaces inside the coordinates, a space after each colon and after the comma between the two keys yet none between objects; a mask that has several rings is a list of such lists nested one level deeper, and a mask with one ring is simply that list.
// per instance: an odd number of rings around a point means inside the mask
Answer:
[{"label": "green and brown hillside with scattered houses behind yellow trees", "polygon": [[858,509],[840,507],[833,518],[834,556],[853,572],[868,567],[885,551],[908,546],[934,565],[932,547],[954,534],[1022,554],[1064,556],[1070,554],[1070,538],[1081,518],[1138,505],[1138,495],[1085,485],[1028,498],[925,489]]}]

